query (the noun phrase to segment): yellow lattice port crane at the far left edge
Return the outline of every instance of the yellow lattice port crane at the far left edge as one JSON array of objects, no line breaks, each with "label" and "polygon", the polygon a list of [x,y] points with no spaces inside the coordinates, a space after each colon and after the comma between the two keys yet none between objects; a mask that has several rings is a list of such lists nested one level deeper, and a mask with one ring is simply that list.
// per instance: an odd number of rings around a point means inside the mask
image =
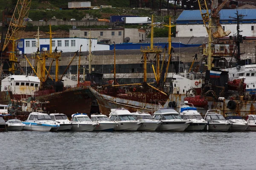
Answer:
[{"label": "yellow lattice port crane at the far left edge", "polygon": [[31,0],[18,0],[14,11],[6,8],[3,12],[3,29],[0,45],[1,74],[3,62],[9,66],[8,71],[11,73],[15,73],[15,63],[17,63],[20,67],[20,71],[23,73],[23,70],[17,61],[17,56],[19,55],[19,51],[16,50],[18,44],[17,31],[26,27],[30,5]]}]

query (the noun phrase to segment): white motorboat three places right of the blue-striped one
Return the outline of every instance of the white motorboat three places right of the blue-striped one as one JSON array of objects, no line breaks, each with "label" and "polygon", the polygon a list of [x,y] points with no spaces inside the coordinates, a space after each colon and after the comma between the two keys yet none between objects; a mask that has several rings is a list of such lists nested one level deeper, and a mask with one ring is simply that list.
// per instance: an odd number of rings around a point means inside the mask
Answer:
[{"label": "white motorboat three places right of the blue-striped one", "polygon": [[118,123],[111,121],[108,116],[104,114],[92,114],[91,120],[98,123],[94,130],[96,131],[113,131]]}]

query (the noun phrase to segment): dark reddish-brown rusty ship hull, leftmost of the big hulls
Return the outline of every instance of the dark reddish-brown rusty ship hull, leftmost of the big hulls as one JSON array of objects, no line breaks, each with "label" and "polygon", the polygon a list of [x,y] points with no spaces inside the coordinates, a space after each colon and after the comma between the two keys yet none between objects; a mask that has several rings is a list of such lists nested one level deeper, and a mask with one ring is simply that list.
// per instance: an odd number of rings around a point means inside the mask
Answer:
[{"label": "dark reddish-brown rusty ship hull, leftmost of the big hulls", "polygon": [[49,101],[47,111],[50,113],[64,113],[71,116],[77,112],[90,115],[94,96],[89,86],[81,86],[41,96],[35,95],[35,99],[41,102]]}]

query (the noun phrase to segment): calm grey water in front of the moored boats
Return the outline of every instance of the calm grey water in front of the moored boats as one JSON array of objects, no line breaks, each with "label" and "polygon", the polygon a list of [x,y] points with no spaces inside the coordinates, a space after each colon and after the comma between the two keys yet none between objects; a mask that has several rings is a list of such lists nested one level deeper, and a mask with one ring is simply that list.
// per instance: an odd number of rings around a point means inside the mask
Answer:
[{"label": "calm grey water in front of the moored boats", "polygon": [[3,132],[0,169],[255,170],[256,132]]}]

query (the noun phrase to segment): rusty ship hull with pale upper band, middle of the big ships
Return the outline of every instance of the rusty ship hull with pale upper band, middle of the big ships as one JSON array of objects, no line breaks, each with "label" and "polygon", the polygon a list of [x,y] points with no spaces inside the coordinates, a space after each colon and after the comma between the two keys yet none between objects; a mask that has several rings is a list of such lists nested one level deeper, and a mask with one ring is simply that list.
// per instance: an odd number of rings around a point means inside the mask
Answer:
[{"label": "rusty ship hull with pale upper band, middle of the big ships", "polygon": [[122,99],[107,94],[100,94],[93,87],[90,87],[90,91],[97,99],[99,111],[105,115],[109,115],[111,109],[113,108],[126,108],[130,112],[141,111],[151,114],[153,114],[157,108],[159,108],[158,104],[139,102],[131,99]]}]

